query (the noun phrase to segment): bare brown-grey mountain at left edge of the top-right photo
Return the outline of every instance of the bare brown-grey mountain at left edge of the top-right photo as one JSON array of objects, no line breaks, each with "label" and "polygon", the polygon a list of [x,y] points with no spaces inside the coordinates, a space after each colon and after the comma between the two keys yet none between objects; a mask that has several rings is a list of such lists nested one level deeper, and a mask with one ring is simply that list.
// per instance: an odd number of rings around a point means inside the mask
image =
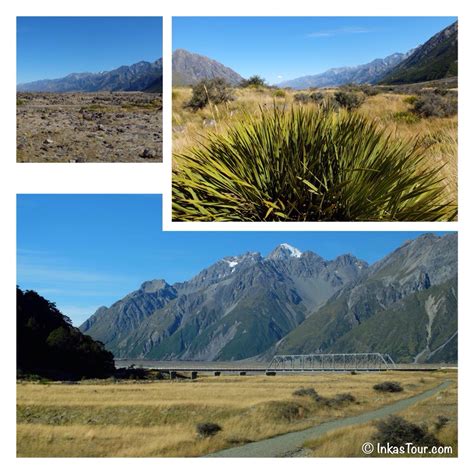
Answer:
[{"label": "bare brown-grey mountain at left edge of the top-right photo", "polygon": [[213,59],[177,49],[173,53],[173,85],[189,86],[203,79],[220,77],[231,85],[237,85],[243,77]]}]

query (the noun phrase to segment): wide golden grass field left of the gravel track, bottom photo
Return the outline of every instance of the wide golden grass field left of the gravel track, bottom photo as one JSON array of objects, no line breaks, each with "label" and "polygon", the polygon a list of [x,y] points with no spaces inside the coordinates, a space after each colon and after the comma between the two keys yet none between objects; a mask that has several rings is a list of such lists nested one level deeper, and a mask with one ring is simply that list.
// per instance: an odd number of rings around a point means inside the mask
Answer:
[{"label": "wide golden grass field left of the gravel track, bottom photo", "polygon": [[[354,415],[435,386],[446,378],[429,373],[318,374],[202,377],[195,381],[17,386],[17,454],[28,456],[201,456]],[[405,391],[375,393],[396,380]],[[294,390],[312,387],[324,397],[352,393],[357,403],[318,405]],[[210,439],[196,424],[218,423]]]}]

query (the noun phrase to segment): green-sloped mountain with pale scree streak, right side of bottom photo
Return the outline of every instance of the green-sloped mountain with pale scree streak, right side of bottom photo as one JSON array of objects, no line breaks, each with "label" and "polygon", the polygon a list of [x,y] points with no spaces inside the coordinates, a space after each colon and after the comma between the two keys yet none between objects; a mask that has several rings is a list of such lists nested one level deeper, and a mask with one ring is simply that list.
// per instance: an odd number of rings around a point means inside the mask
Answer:
[{"label": "green-sloped mountain with pale scree streak, right side of bottom photo", "polygon": [[275,346],[281,354],[361,351],[405,362],[456,360],[455,234],[407,242]]}]

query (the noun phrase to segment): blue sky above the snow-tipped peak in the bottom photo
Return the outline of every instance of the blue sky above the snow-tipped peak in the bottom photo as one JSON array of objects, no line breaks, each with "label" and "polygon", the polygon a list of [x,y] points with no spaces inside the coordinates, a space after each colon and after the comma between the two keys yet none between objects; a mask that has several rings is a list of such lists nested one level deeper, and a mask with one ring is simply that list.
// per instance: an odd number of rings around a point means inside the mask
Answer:
[{"label": "blue sky above the snow-tipped peak in the bottom photo", "polygon": [[159,195],[19,195],[17,283],[76,324],[141,283],[184,281],[220,258],[280,243],[373,263],[420,232],[162,232]]}]

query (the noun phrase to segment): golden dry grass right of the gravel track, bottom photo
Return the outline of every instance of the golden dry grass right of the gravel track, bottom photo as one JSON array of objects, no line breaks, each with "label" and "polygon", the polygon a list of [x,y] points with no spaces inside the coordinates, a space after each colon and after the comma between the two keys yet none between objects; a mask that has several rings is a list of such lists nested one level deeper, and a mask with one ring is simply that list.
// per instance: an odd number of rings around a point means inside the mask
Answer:
[{"label": "golden dry grass right of the gravel track, bottom photo", "polygon": [[[416,424],[426,424],[439,440],[441,446],[452,448],[450,456],[457,456],[458,387],[455,378],[452,377],[451,380],[452,383],[446,390],[434,397],[416,403],[397,415]],[[449,422],[445,427],[437,430],[435,424],[439,416],[447,417]],[[305,443],[306,455],[317,457],[367,457],[362,453],[361,447],[365,442],[371,441],[376,431],[374,423],[365,423],[331,431],[317,439],[307,441]],[[377,456],[377,454],[374,453],[372,456]]]}]

